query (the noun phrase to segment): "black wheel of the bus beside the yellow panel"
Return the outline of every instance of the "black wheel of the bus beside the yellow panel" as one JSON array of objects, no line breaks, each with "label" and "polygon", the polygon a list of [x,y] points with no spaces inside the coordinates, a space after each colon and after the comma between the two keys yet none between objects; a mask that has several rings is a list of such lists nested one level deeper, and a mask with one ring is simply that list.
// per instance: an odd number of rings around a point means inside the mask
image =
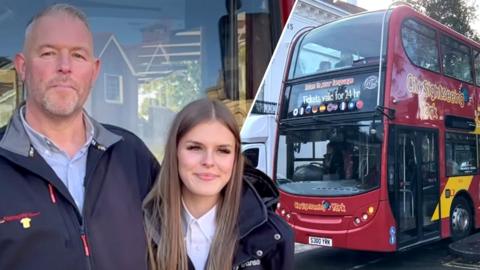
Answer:
[{"label": "black wheel of the bus beside the yellow panel", "polygon": [[452,202],[450,210],[450,234],[456,241],[467,237],[472,231],[472,213],[464,197],[457,197]]}]

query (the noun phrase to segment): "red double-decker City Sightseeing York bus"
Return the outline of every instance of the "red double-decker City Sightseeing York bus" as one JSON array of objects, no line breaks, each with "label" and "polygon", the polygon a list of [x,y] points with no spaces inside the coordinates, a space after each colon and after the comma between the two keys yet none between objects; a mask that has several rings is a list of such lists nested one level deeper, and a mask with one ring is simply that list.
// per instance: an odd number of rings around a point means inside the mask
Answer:
[{"label": "red double-decker City Sightseeing York bus", "polygon": [[298,242],[396,251],[480,227],[479,52],[407,6],[296,37],[274,174]]}]

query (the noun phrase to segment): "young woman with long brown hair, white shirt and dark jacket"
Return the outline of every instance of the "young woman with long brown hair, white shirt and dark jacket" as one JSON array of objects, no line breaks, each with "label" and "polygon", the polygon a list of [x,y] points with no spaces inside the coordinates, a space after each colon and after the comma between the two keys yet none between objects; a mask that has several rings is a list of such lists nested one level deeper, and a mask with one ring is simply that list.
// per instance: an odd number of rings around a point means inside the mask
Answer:
[{"label": "young woman with long brown hair, white shirt and dark jacket", "polygon": [[219,101],[177,115],[144,208],[151,269],[293,269],[293,234],[243,180],[239,130]]}]

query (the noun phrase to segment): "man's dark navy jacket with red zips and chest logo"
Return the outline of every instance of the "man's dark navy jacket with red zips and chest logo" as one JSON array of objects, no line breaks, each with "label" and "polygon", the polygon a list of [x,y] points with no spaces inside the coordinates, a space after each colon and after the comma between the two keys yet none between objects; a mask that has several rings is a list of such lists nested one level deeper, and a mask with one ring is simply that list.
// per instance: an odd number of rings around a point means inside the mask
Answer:
[{"label": "man's dark navy jacket with red zips and chest logo", "polygon": [[146,269],[141,205],[158,162],[132,133],[92,123],[83,213],[18,110],[0,130],[0,270]]}]

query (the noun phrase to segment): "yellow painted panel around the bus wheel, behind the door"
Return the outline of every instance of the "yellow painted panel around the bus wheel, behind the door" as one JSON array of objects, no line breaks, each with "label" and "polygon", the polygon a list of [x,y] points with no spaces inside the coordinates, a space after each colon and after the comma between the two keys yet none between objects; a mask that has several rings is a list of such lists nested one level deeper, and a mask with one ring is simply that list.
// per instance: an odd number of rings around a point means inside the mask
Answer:
[{"label": "yellow painted panel around the bus wheel, behind the door", "polygon": [[[468,191],[468,188],[470,187],[472,180],[473,180],[473,176],[471,175],[455,176],[455,177],[449,177],[447,179],[447,185],[443,189],[442,195],[440,196],[440,200],[439,200],[439,203],[442,205],[441,218],[450,217],[450,207],[452,207],[452,201],[453,201],[453,198],[455,197],[455,194],[461,190]],[[450,196],[448,198],[445,195],[447,190],[450,191]],[[440,207],[440,204],[437,204],[437,207],[435,208],[435,212],[433,213],[431,221],[438,220],[438,209]]]}]

